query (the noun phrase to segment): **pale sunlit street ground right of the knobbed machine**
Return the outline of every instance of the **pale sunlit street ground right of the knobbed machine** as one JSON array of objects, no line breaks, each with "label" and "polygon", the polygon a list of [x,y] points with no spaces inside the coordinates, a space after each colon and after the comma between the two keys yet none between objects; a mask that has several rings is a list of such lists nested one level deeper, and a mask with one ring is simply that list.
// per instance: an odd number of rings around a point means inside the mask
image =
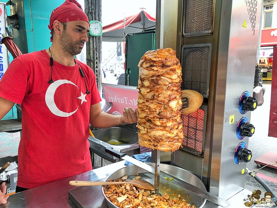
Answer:
[{"label": "pale sunlit street ground right of the knobbed machine", "polygon": [[[252,159],[247,163],[247,168],[250,170],[259,169],[258,165],[254,162],[255,159],[270,150],[277,152],[277,138],[268,137],[271,81],[263,81],[263,87],[266,89],[264,103],[251,112],[250,123],[255,126],[255,133],[249,138],[248,144],[248,149],[252,151]],[[277,158],[274,161],[277,161]],[[264,182],[272,189],[275,195],[277,195],[277,169],[264,167],[257,170],[257,172],[260,177],[263,177]],[[262,193],[265,192],[264,188],[250,175],[246,175],[245,188],[252,191],[259,189]]]}]

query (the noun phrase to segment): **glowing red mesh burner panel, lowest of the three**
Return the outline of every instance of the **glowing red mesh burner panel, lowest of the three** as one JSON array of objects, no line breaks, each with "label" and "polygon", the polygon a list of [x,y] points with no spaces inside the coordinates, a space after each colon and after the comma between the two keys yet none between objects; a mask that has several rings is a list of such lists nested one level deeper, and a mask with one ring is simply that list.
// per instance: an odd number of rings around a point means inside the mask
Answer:
[{"label": "glowing red mesh burner panel, lowest of the three", "polygon": [[183,149],[187,149],[202,156],[204,152],[203,129],[205,121],[205,111],[198,109],[197,111],[181,115],[183,122]]}]

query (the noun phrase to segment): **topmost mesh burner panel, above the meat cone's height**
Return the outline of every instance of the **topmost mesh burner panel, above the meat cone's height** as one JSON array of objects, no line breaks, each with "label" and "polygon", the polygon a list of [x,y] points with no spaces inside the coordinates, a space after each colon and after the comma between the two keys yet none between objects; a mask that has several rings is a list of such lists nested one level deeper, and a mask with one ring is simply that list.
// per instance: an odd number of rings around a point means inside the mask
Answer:
[{"label": "topmost mesh burner panel, above the meat cone's height", "polygon": [[184,33],[210,31],[212,12],[213,0],[187,0]]}]

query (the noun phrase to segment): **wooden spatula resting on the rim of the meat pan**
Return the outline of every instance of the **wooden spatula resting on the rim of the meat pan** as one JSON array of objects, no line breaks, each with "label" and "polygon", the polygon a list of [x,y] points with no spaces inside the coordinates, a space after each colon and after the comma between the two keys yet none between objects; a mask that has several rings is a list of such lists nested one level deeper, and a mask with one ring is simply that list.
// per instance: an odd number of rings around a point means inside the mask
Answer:
[{"label": "wooden spatula resting on the rim of the meat pan", "polygon": [[116,184],[124,184],[129,183],[135,187],[139,187],[142,189],[152,190],[154,191],[154,186],[143,180],[132,180],[132,181],[123,181],[123,182],[102,182],[102,181],[69,181],[69,184],[72,186],[99,186],[99,185],[116,185]]}]

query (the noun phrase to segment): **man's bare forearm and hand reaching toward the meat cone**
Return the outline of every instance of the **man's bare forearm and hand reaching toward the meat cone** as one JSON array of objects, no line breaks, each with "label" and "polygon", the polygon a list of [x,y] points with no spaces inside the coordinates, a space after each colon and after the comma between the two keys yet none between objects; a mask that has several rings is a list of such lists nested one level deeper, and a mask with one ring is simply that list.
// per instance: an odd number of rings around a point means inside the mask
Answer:
[{"label": "man's bare forearm and hand reaching toward the meat cone", "polygon": [[138,121],[137,114],[132,108],[125,108],[123,115],[104,113],[100,104],[90,106],[90,124],[95,128],[109,128],[119,124],[132,124]]}]

